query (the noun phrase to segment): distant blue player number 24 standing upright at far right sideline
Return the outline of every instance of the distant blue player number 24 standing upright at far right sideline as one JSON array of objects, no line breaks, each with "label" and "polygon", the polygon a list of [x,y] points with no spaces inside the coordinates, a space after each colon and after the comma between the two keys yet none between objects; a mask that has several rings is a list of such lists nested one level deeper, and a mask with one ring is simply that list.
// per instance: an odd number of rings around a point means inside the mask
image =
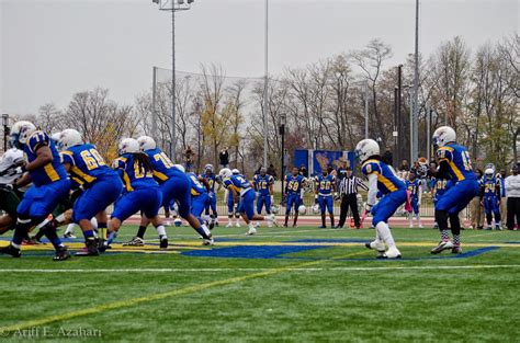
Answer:
[{"label": "distant blue player number 24 standing upright at far right sideline", "polygon": [[481,204],[486,211],[487,230],[493,230],[493,216],[495,216],[495,228],[501,230],[500,181],[495,178],[495,171],[490,168],[484,171],[481,185]]}]

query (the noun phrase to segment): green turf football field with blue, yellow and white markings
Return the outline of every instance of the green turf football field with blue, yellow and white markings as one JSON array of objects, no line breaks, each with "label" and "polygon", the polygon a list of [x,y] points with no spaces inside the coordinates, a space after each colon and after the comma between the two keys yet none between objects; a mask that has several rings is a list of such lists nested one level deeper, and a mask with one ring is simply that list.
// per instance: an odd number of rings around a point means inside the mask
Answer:
[{"label": "green turf football field with blue, yellow and white markings", "polygon": [[[118,241],[135,233],[122,228]],[[144,248],[53,262],[48,244],[0,256],[2,342],[518,342],[520,232],[394,229],[403,260],[375,260],[371,229],[216,228],[213,248],[168,228]],[[8,239],[8,237],[3,237]],[[79,239],[68,242],[78,249]],[[5,244],[7,241],[1,242]]]}]

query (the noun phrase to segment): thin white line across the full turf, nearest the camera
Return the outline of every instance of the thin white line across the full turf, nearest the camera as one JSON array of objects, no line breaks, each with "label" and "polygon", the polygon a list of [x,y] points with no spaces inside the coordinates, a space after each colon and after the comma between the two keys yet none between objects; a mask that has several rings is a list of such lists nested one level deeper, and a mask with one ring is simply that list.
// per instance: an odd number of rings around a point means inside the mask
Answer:
[{"label": "thin white line across the full turf, nearest the camera", "polygon": [[[417,266],[337,266],[337,267],[283,267],[293,272],[323,272],[323,271],[437,271],[437,270],[489,270],[489,268],[520,268],[520,264],[475,264],[475,265],[417,265]],[[89,268],[89,270],[10,270],[1,268],[0,273],[179,273],[179,272],[268,272],[276,268],[255,267],[222,267],[222,268]]]}]

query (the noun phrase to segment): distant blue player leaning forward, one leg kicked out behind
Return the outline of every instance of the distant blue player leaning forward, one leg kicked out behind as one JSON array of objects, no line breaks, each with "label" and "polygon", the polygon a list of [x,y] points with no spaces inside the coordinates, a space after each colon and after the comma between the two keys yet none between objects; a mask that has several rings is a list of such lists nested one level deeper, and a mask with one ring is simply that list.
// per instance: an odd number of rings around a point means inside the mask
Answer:
[{"label": "distant blue player leaning forward, one leg kicked out behind", "polygon": [[256,193],[255,190],[251,187],[251,184],[244,175],[234,174],[228,168],[224,168],[218,173],[222,180],[222,184],[226,190],[229,191],[229,196],[233,196],[235,199],[240,196],[240,205],[238,206],[238,213],[241,214],[244,220],[246,221],[249,230],[246,235],[255,235],[257,233],[257,229],[251,220],[264,220],[276,225],[276,220],[274,215],[269,216],[260,216],[255,214],[255,198]]}]

